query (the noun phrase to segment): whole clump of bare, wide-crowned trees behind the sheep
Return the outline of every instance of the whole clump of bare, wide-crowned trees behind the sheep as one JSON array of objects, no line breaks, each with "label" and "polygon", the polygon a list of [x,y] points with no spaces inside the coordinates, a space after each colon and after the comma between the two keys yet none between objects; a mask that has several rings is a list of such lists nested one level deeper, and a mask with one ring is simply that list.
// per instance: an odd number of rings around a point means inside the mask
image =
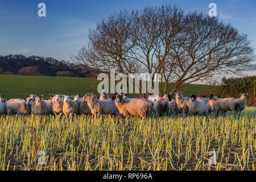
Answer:
[{"label": "whole clump of bare, wide-crowned trees behind the sheep", "polygon": [[105,73],[159,73],[164,93],[174,82],[171,95],[191,82],[238,73],[255,59],[246,34],[217,17],[171,5],[109,15],[88,38],[73,61]]}]

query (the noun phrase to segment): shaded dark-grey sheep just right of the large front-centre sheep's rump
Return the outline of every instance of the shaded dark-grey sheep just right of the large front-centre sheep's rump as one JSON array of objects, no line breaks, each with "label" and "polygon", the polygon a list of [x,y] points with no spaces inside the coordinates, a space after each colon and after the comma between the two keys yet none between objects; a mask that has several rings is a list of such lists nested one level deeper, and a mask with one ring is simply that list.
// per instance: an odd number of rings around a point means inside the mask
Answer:
[{"label": "shaded dark-grey sheep just right of the large front-centre sheep's rump", "polygon": [[158,115],[162,115],[164,113],[169,115],[171,112],[169,101],[171,101],[170,95],[165,94],[163,98],[159,98],[154,102],[154,111]]}]

